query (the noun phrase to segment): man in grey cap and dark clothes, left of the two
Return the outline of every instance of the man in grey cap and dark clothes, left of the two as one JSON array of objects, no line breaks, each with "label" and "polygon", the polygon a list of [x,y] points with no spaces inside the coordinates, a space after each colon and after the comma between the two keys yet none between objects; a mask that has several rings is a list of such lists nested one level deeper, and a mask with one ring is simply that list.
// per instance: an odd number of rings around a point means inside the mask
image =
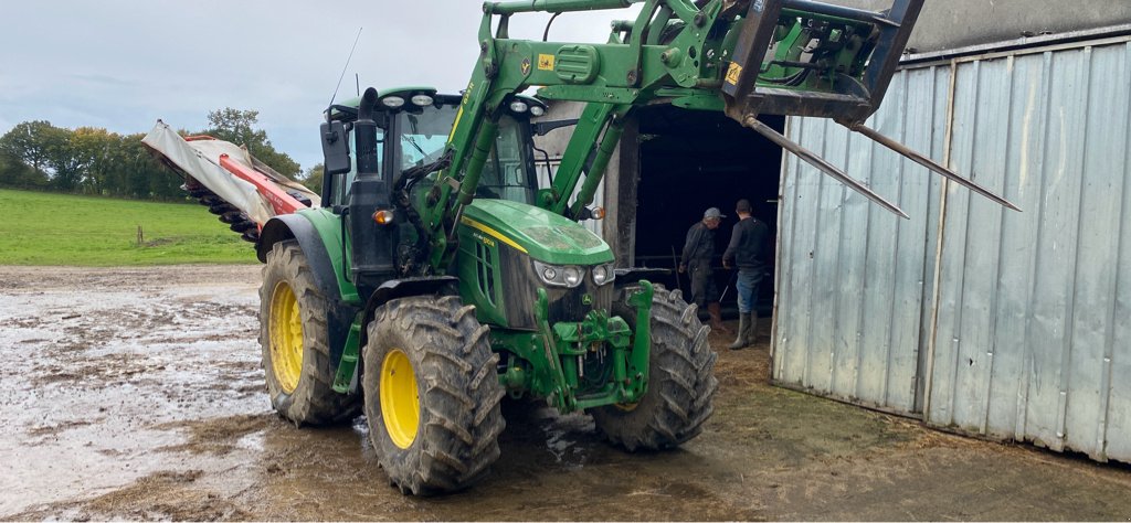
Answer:
[{"label": "man in grey cap and dark clothes, left of the two", "polygon": [[680,256],[680,272],[691,272],[691,300],[710,313],[710,326],[719,332],[729,333],[731,330],[723,325],[722,306],[718,303],[718,287],[715,285],[715,277],[711,274],[710,263],[715,259],[715,229],[723,221],[722,212],[717,207],[711,207],[703,212],[703,219],[696,221],[688,229],[688,237],[683,242],[683,255]]}]

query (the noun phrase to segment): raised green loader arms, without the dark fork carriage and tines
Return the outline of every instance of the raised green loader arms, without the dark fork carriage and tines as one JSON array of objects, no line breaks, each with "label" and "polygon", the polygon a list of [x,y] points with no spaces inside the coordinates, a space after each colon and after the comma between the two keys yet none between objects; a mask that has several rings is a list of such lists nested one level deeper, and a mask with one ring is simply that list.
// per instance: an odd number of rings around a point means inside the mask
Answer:
[{"label": "raised green loader arms, without the dark fork carriage and tines", "polygon": [[[510,16],[535,10],[564,12],[623,8],[629,3],[627,0],[535,0],[484,5],[478,33],[480,60],[472,71],[472,79],[448,139],[447,154],[450,155],[451,163],[440,171],[423,212],[430,229],[432,267],[442,272],[455,258],[455,228],[464,207],[474,199],[480,174],[494,143],[500,107],[510,96],[530,86],[556,86],[566,89],[562,96],[569,99],[616,106],[608,108],[607,119],[595,122],[592,134],[571,140],[578,143],[573,149],[578,154],[571,155],[571,158],[576,158],[580,172],[580,164],[586,162],[589,146],[603,134],[595,157],[601,163],[594,163],[594,167],[598,168],[593,169],[599,173],[604,171],[604,164],[620,138],[623,116],[631,107],[650,99],[655,89],[671,79],[671,75],[661,67],[662,54],[667,47],[647,43],[646,33],[634,34],[625,43],[596,45],[511,40],[508,34]],[[683,0],[648,0],[645,3],[645,10],[637,19],[640,27],[647,25],[653,14],[668,5],[676,7],[668,7],[665,12],[677,11],[688,19],[700,12]],[[497,17],[498,28],[492,33],[492,23]],[[700,32],[699,36],[701,41],[706,40],[705,32]],[[658,33],[651,37],[656,38]],[[641,71],[651,73],[642,77]],[[613,117],[614,114],[619,117]],[[610,129],[606,130],[606,127]],[[580,176],[575,175],[570,180],[568,188],[562,184],[562,190],[568,191],[556,192],[547,207],[576,217],[580,207],[573,206],[575,209],[567,210],[564,206]],[[586,182],[582,191],[588,197],[579,199],[579,203],[592,200],[599,175],[593,178],[592,184],[590,180]]]}]

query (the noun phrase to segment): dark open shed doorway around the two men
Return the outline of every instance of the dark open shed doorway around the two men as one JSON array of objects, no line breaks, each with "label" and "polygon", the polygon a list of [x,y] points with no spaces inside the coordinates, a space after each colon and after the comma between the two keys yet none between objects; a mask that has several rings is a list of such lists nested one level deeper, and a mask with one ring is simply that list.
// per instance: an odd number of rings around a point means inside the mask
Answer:
[{"label": "dark open shed doorway around the two men", "polygon": [[[726,218],[715,234],[715,282],[719,293],[725,290],[724,317],[736,317],[734,271],[724,270],[722,261],[737,223],[734,207],[739,199],[751,201],[754,216],[770,229],[767,252],[775,252],[782,149],[722,113],[658,105],[639,110],[636,117],[640,147],[634,264],[673,269],[665,285],[681,288],[690,300],[690,282],[674,269],[688,228],[705,210],[718,207]],[[785,128],[783,116],[760,119],[778,132]],[[771,315],[774,305],[774,260],[768,262],[758,300],[762,317]]]}]

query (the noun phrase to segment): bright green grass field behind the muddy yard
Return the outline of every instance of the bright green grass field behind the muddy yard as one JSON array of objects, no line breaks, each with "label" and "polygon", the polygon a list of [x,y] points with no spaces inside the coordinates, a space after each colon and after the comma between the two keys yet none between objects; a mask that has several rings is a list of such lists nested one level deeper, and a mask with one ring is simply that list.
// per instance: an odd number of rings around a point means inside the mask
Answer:
[{"label": "bright green grass field behind the muddy yard", "polygon": [[202,206],[0,189],[0,264],[173,263],[258,260],[251,243]]}]

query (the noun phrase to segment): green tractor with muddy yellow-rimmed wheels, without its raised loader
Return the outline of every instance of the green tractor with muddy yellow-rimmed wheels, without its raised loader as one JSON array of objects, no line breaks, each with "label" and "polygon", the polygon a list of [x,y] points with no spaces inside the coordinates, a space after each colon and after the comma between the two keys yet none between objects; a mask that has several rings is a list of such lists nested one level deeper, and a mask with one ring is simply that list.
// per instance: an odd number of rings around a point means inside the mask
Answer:
[{"label": "green tractor with muddy yellow-rimmed wheels, without its raised loader", "polygon": [[474,199],[442,218],[451,262],[429,262],[424,212],[451,186],[438,169],[461,101],[369,89],[328,112],[322,207],[271,219],[258,243],[275,409],[300,425],[363,409],[381,467],[412,494],[487,470],[506,395],[585,410],[630,451],[694,437],[717,389],[708,329],[679,291],[618,269],[598,236],[535,204],[541,102],[508,98],[477,149]]}]

